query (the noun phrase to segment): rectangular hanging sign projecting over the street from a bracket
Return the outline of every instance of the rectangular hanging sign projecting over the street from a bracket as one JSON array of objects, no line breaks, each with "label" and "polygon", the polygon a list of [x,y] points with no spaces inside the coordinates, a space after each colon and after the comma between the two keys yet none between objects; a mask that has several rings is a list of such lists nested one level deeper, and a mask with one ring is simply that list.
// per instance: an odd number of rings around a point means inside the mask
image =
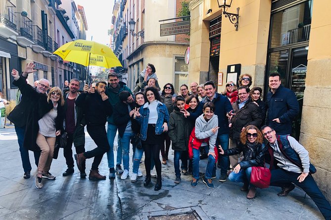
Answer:
[{"label": "rectangular hanging sign projecting over the street from a bracket", "polygon": [[160,37],[189,33],[189,21],[178,21],[160,25]]}]

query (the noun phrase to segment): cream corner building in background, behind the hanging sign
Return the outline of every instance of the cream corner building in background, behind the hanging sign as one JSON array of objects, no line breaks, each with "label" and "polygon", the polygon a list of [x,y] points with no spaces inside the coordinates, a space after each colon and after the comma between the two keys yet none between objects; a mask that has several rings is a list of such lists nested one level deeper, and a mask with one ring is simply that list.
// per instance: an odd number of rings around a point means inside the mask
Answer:
[{"label": "cream corner building in background, behind the hanging sign", "polygon": [[[188,65],[184,54],[189,46],[189,36],[173,35],[160,37],[160,24],[174,22],[183,0],[120,0],[115,1],[112,22],[114,24],[113,50],[123,68],[115,71],[121,73],[122,80],[131,89],[136,86],[139,74],[148,63],[156,69],[159,85],[171,82],[175,89],[188,82]],[[129,22],[133,19],[134,33],[143,31],[142,35],[133,36]]]}]

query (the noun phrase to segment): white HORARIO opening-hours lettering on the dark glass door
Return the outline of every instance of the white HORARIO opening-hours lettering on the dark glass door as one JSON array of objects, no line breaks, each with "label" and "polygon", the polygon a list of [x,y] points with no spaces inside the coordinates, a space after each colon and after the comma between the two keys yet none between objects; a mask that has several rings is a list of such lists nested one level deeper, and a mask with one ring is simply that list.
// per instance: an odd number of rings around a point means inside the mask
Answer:
[{"label": "white HORARIO opening-hours lettering on the dark glass door", "polygon": [[296,97],[302,98],[305,91],[307,67],[303,64],[292,69],[291,89]]}]

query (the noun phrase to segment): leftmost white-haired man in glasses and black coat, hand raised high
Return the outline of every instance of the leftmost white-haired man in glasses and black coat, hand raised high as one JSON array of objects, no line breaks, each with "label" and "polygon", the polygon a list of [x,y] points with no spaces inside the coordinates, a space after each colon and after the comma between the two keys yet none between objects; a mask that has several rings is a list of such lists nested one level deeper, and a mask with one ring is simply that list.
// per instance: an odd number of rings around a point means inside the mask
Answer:
[{"label": "leftmost white-haired man in glasses and black coat, hand raised high", "polygon": [[[22,98],[21,102],[10,112],[8,119],[14,123],[15,131],[17,135],[17,141],[19,145],[19,150],[21,153],[22,165],[24,170],[24,179],[29,179],[31,177],[31,164],[29,158],[29,146],[24,146],[24,136],[26,134],[26,124],[29,119],[34,119],[37,117],[36,107],[40,99],[47,99],[46,91],[49,88],[49,81],[47,79],[41,79],[37,83],[36,91],[38,92],[38,97],[32,97],[32,94],[29,93],[29,87],[31,85],[27,84],[26,78],[29,73],[34,73],[37,70],[34,70],[34,63],[28,63],[24,69],[24,72],[21,75],[18,75],[17,70],[12,70],[12,75],[17,76],[14,78],[13,84],[19,87]],[[38,167],[40,151],[34,151],[35,164]]]}]

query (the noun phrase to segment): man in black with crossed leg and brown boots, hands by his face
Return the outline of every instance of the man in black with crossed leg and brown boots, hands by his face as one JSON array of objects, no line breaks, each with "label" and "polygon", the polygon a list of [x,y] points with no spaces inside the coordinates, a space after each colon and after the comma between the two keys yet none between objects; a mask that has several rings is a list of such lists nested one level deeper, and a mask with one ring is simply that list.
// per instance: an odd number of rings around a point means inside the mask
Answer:
[{"label": "man in black with crossed leg and brown boots, hands by his face", "polygon": [[85,153],[75,154],[77,167],[81,172],[84,171],[82,165],[85,160],[94,157],[89,180],[106,179],[106,176],[100,175],[98,171],[103,154],[109,150],[105,124],[107,115],[111,115],[113,112],[108,102],[108,96],[104,93],[106,86],[107,83],[103,81],[97,82],[95,88],[85,85],[84,93],[76,100],[76,105],[84,109],[87,131],[97,146]]}]

